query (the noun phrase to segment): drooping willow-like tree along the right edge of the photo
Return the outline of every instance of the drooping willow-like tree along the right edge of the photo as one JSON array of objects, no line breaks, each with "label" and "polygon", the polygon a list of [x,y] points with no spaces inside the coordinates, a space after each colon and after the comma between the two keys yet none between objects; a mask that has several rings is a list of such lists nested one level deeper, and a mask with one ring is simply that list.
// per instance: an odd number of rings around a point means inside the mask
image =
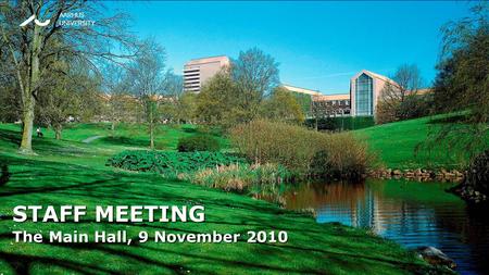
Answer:
[{"label": "drooping willow-like tree along the right edge of the photo", "polygon": [[[475,155],[488,147],[489,132],[489,4],[472,8],[472,16],[448,23],[435,79],[435,107],[450,113],[428,146],[463,146]],[[456,122],[456,123],[453,123]]]}]

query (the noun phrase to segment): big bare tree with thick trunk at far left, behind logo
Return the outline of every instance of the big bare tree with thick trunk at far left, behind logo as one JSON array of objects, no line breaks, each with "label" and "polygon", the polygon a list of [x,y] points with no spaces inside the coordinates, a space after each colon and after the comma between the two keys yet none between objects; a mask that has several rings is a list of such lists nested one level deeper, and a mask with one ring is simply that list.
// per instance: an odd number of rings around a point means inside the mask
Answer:
[{"label": "big bare tree with thick trunk at far left, behind logo", "polygon": [[[49,60],[53,57],[73,54],[92,64],[93,68],[102,60],[120,62],[133,57],[125,49],[133,46],[134,39],[126,35],[123,14],[108,16],[100,4],[92,1],[18,1],[5,3],[0,10],[1,39],[9,51],[9,63],[14,68],[21,99],[23,133],[20,152],[32,153],[35,105],[41,87],[48,86]],[[95,21],[93,26],[68,27],[61,24],[62,14],[83,13]],[[18,23],[35,16],[47,26]],[[12,24],[15,22],[16,24]],[[111,49],[115,46],[118,53]]]}]

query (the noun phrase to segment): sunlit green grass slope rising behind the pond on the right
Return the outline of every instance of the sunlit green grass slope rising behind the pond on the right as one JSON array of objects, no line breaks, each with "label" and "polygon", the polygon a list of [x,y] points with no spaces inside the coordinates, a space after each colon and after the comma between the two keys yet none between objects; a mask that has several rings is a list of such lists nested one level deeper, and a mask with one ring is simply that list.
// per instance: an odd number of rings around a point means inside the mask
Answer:
[{"label": "sunlit green grass slope rising behind the pond on the right", "polygon": [[[440,117],[440,116],[437,116]],[[431,117],[377,125],[354,133],[367,140],[373,152],[390,168],[461,168],[469,155],[462,147],[448,148],[439,143],[431,149],[425,145],[429,133],[436,133],[441,126]],[[489,141],[489,137],[487,139]],[[416,146],[422,149],[416,152]]]}]

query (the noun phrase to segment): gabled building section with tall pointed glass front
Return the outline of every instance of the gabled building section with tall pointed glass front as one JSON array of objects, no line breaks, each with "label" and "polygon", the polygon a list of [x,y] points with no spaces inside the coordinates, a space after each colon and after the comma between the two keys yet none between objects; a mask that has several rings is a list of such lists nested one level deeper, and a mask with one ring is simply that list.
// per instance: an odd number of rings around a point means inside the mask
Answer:
[{"label": "gabled building section with tall pointed glass front", "polygon": [[351,114],[375,115],[377,102],[387,83],[392,79],[363,70],[350,79]]}]

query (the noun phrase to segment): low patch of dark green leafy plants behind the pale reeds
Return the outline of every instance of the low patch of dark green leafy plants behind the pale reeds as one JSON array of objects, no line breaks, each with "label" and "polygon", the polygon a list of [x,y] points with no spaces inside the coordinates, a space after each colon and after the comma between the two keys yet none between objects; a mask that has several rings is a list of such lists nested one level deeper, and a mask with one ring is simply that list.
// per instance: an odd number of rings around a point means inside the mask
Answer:
[{"label": "low patch of dark green leafy plants behind the pale reeds", "polygon": [[106,165],[130,171],[156,172],[167,177],[181,173],[196,172],[217,165],[243,163],[240,158],[220,152],[158,152],[158,151],[123,151],[111,159]]}]

